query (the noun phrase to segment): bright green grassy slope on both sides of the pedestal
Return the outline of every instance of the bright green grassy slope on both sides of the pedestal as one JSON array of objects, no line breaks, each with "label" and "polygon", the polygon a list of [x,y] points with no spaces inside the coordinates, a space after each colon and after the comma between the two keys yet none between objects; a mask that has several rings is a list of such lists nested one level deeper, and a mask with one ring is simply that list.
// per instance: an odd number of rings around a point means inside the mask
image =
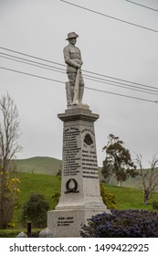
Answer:
[{"label": "bright green grassy slope on both sides of the pedestal", "polygon": [[[16,209],[14,221],[16,223],[16,228],[20,228],[22,208],[29,195],[32,192],[42,193],[46,197],[50,209],[54,209],[57,205],[57,202],[54,201],[51,196],[56,192],[60,192],[61,180],[58,176],[39,175],[34,173],[18,173],[17,176],[21,181],[21,193],[18,196],[18,202],[21,207]],[[130,187],[116,187],[106,184],[104,184],[104,186],[109,192],[116,196],[118,209],[152,209],[151,204],[148,206],[143,205],[143,192],[140,189],[134,189]],[[154,194],[153,199],[158,200],[158,194]]]}]

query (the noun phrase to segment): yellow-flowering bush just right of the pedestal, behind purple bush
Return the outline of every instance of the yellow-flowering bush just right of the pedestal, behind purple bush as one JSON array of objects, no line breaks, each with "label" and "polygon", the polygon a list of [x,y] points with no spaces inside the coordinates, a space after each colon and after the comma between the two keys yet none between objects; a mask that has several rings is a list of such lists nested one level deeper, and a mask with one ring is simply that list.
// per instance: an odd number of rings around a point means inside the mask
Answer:
[{"label": "yellow-flowering bush just right of the pedestal, behind purple bush", "polygon": [[116,208],[115,195],[108,192],[102,184],[100,184],[100,196],[102,197],[103,203],[107,206],[107,208]]}]

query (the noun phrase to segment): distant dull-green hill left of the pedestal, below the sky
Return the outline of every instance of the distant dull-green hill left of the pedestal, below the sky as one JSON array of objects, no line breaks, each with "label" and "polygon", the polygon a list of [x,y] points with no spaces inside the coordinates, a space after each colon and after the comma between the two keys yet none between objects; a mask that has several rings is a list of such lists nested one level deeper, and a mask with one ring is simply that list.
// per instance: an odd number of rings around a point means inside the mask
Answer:
[{"label": "distant dull-green hill left of the pedestal, below the sky", "polygon": [[46,174],[56,176],[61,168],[61,160],[52,157],[37,156],[16,160],[17,171],[31,174]]}]

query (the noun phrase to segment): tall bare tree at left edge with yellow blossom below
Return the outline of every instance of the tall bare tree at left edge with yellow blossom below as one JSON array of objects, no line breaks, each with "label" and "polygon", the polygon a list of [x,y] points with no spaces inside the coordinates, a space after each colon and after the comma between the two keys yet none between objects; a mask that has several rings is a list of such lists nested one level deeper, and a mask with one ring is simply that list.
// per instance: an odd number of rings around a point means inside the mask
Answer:
[{"label": "tall bare tree at left edge with yellow blossom below", "polygon": [[13,159],[21,150],[19,116],[14,100],[7,94],[0,99],[0,228],[5,229],[12,219],[19,193]]}]

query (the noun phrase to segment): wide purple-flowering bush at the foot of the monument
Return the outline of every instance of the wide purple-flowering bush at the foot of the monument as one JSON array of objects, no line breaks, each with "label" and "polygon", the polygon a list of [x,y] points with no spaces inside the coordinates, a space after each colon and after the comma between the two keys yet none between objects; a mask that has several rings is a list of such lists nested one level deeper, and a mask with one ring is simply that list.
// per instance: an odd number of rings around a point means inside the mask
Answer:
[{"label": "wide purple-flowering bush at the foot of the monument", "polygon": [[92,217],[82,229],[84,238],[157,238],[158,213],[113,209]]}]

